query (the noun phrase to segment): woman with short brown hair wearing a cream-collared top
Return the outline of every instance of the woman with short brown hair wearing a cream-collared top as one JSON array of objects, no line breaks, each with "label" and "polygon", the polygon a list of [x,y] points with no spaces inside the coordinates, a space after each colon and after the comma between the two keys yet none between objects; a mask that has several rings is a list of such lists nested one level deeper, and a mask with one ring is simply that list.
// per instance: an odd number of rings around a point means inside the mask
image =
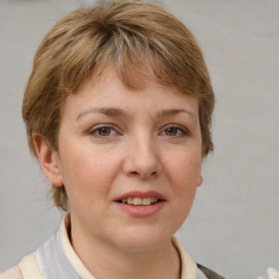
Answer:
[{"label": "woman with short brown hair wearing a cream-collared top", "polygon": [[222,278],[173,233],[213,150],[214,92],[186,27],[136,0],[59,21],[23,101],[29,147],[69,211],[3,278]]}]

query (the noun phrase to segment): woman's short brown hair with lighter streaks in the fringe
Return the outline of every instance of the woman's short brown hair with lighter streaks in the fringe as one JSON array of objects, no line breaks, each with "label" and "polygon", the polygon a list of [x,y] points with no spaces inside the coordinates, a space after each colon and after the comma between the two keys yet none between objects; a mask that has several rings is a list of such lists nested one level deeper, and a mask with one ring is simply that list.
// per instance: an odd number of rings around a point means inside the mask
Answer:
[{"label": "woman's short brown hair with lighter streaks in the fringe", "polygon": [[[33,132],[58,150],[65,96],[75,94],[87,77],[97,76],[111,64],[131,88],[141,86],[141,76],[195,96],[199,104],[203,156],[213,150],[215,97],[194,36],[157,4],[117,0],[71,12],[39,46],[23,100],[23,119],[34,156]],[[64,187],[52,189],[54,204],[66,209]]]}]

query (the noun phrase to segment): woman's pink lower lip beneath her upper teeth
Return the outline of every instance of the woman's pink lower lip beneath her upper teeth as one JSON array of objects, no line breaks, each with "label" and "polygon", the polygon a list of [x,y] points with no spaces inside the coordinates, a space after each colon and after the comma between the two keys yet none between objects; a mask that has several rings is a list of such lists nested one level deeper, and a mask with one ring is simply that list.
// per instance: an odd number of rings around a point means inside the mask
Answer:
[{"label": "woman's pink lower lip beneath her upper teeth", "polygon": [[137,218],[147,218],[156,215],[165,205],[165,202],[159,202],[153,205],[128,205],[116,203],[121,210]]}]

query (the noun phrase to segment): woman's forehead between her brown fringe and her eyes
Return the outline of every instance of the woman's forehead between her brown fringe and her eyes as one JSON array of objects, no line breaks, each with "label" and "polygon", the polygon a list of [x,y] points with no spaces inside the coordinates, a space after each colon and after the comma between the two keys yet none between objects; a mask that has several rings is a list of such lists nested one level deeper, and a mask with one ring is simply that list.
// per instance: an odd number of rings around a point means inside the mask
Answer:
[{"label": "woman's forehead between her brown fringe and her eyes", "polygon": [[87,78],[76,94],[68,96],[62,116],[66,112],[71,118],[78,119],[94,112],[110,117],[149,114],[158,118],[179,111],[198,119],[197,99],[151,80],[143,80],[141,88],[129,88],[110,68],[98,78]]}]

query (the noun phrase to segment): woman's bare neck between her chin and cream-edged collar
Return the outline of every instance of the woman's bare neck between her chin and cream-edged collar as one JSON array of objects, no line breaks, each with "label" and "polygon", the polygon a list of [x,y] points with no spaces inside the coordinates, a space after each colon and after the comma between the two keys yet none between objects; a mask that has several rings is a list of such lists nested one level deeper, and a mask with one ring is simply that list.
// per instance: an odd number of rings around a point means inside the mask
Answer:
[{"label": "woman's bare neck between her chin and cream-edged collar", "polygon": [[[92,235],[71,234],[72,246],[95,278],[179,279],[180,257],[171,240],[149,251],[124,251]],[[109,268],[108,268],[109,267]]]}]

